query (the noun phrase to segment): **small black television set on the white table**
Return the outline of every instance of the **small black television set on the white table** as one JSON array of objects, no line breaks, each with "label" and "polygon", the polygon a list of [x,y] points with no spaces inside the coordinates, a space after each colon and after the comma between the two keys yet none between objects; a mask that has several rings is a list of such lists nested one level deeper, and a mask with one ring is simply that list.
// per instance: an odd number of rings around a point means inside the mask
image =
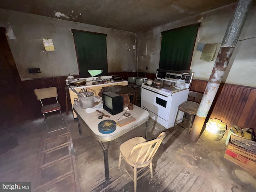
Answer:
[{"label": "small black television set on the white table", "polygon": [[112,115],[124,110],[124,98],[112,91],[102,92],[103,108]]}]

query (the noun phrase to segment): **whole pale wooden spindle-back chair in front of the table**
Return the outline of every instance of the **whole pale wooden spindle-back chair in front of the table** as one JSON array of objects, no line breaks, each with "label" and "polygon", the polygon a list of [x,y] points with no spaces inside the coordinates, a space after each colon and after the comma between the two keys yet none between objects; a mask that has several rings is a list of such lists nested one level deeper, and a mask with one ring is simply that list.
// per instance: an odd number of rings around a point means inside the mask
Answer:
[{"label": "whole pale wooden spindle-back chair in front of the table", "polygon": [[[149,171],[151,173],[151,178],[153,178],[153,166],[152,166],[152,159],[156,154],[162,140],[166,136],[166,132],[162,132],[159,136],[151,141],[147,141],[143,137],[135,137],[129,139],[128,141],[124,142],[120,146],[120,154],[119,154],[119,162],[118,162],[118,169],[120,169],[121,160],[127,162],[131,168],[133,168],[133,177],[129,174],[128,170],[124,167],[124,170],[128,173],[128,175],[132,178],[134,182],[134,191],[137,190],[137,180],[139,180],[142,176],[147,174]],[[137,178],[137,173],[142,171],[144,168],[149,167],[146,172],[144,172],[141,176]],[[137,172],[137,168],[140,168]]]}]

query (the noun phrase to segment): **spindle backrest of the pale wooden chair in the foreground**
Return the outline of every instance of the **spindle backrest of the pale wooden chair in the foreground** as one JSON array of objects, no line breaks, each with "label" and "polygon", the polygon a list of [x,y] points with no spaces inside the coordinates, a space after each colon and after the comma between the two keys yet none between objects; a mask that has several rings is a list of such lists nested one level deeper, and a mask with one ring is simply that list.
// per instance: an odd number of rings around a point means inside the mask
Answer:
[{"label": "spindle backrest of the pale wooden chair in the foreground", "polygon": [[166,136],[166,132],[162,132],[154,140],[135,145],[132,148],[130,155],[128,156],[128,159],[132,156],[134,152],[136,152],[138,156],[136,158],[135,164],[142,165],[144,164],[145,161],[146,162],[152,161],[154,155],[156,154],[156,151],[158,150],[165,136]]}]

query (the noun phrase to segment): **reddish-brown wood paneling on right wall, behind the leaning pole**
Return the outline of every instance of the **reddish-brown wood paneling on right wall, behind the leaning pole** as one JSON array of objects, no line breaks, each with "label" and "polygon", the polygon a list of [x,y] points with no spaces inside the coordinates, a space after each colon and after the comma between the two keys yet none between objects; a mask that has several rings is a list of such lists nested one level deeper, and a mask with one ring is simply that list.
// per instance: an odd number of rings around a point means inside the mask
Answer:
[{"label": "reddish-brown wood paneling on right wall, behind the leaning pole", "polygon": [[[190,90],[204,92],[207,81],[193,80]],[[241,128],[256,128],[256,88],[232,84],[220,85],[212,107],[210,118],[221,119]]]}]

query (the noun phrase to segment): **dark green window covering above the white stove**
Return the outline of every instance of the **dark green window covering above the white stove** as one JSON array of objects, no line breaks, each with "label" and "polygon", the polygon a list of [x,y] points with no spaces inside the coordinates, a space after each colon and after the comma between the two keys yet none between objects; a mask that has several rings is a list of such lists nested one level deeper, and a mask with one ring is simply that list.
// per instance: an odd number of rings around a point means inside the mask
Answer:
[{"label": "dark green window covering above the white stove", "polygon": [[159,68],[189,70],[199,24],[162,32]]}]

